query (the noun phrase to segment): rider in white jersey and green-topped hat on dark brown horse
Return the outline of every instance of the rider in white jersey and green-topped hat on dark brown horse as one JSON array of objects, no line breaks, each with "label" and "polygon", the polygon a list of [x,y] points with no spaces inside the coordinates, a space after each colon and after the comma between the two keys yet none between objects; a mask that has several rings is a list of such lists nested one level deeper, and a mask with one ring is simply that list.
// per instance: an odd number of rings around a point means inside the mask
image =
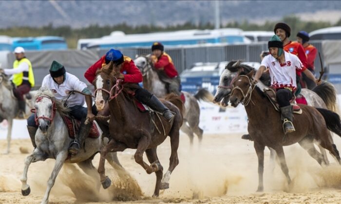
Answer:
[{"label": "rider in white jersey and green-topped hat on dark brown horse", "polygon": [[271,37],[268,42],[271,55],[264,57],[254,80],[257,82],[263,71],[269,68],[271,86],[276,89],[276,98],[281,109],[284,134],[288,134],[295,131],[290,100],[297,89],[295,72],[303,69],[303,64],[296,55],[283,51],[283,47],[283,42],[277,35]]}]

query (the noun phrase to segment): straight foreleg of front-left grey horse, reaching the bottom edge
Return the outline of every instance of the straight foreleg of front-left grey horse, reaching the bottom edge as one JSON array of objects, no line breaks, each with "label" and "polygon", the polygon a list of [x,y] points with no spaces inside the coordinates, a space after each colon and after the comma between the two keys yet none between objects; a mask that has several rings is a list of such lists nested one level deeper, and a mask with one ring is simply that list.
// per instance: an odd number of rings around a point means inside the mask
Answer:
[{"label": "straight foreleg of front-left grey horse, reaching the bottom edge", "polygon": [[48,203],[51,188],[55,184],[57,175],[58,175],[61,167],[63,166],[64,161],[67,158],[67,156],[68,156],[68,152],[67,151],[64,151],[64,152],[61,152],[61,153],[57,154],[55,167],[53,168],[51,176],[50,176],[50,178],[49,178],[49,180],[47,182],[47,188],[46,188],[45,196],[44,196],[44,198],[43,198],[43,200],[41,202],[42,204],[47,204]]}]

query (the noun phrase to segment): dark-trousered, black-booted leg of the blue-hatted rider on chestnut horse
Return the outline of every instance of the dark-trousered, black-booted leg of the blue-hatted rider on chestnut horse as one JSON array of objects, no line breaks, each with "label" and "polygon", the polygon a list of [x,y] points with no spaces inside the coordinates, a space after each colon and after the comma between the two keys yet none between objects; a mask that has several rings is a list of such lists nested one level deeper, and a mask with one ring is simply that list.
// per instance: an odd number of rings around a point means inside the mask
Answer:
[{"label": "dark-trousered, black-booted leg of the blue-hatted rider on chestnut horse", "polygon": [[174,114],[170,112],[170,109],[168,109],[155,95],[151,94],[146,89],[142,87],[136,89],[135,98],[139,102],[145,103],[153,110],[162,113],[162,116],[165,117],[168,122],[171,122],[174,119]]}]

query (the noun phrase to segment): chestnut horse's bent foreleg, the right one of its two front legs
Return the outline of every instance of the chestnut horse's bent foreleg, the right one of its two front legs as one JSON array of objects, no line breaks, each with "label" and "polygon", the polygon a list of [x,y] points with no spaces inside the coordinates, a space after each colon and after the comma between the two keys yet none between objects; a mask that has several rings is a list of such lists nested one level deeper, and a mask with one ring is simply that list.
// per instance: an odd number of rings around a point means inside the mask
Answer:
[{"label": "chestnut horse's bent foreleg, the right one of its two front legs", "polygon": [[134,154],[135,162],[143,167],[144,170],[148,174],[155,172],[158,170],[157,165],[148,165],[146,162],[143,161],[143,153],[147,150],[148,146],[151,144],[150,136],[142,136],[140,141],[138,142],[136,152]]}]

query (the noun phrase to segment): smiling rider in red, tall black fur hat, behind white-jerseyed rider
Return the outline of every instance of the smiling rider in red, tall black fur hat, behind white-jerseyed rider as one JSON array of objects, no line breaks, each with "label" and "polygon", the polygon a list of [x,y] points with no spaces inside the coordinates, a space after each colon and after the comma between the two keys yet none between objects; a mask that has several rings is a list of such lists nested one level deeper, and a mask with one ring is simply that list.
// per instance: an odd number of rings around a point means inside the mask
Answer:
[{"label": "smiling rider in red, tall black fur hat, behind white-jerseyed rider", "polygon": [[296,70],[297,91],[295,92],[295,95],[298,96],[301,93],[301,84],[299,82],[302,72],[314,82],[316,81],[315,76],[309,70],[306,69],[307,58],[302,45],[298,42],[292,42],[289,40],[291,34],[290,27],[285,23],[277,23],[275,25],[274,32],[282,40],[284,51],[290,52],[291,54],[298,56],[298,58],[303,64],[302,70]]}]

